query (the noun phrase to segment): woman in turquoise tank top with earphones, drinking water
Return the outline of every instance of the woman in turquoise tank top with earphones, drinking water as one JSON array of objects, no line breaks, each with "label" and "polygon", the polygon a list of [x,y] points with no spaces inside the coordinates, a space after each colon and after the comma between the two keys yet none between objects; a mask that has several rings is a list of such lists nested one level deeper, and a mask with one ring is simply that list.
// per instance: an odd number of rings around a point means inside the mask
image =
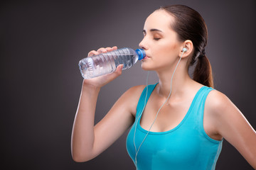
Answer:
[{"label": "woman in turquoise tank top with earphones, drinking water", "polygon": [[[204,50],[207,28],[200,14],[187,6],[164,6],[146,18],[143,33],[142,69],[155,71],[159,83],[132,87],[94,125],[100,88],[122,74],[122,65],[112,74],[84,79],[73,159],[97,157],[132,126],[127,151],[137,169],[215,169],[223,138],[256,169],[255,130],[227,96],[213,89]],[[88,56],[116,49],[102,47]]]}]

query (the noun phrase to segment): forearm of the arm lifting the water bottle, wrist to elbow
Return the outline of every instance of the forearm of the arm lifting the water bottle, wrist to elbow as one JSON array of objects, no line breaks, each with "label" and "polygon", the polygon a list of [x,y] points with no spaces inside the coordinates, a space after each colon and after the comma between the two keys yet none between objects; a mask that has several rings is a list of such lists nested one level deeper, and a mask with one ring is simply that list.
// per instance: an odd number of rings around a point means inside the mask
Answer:
[{"label": "forearm of the arm lifting the water bottle, wrist to elbow", "polygon": [[86,161],[92,155],[95,108],[99,91],[99,87],[82,85],[71,141],[73,159],[77,162]]}]

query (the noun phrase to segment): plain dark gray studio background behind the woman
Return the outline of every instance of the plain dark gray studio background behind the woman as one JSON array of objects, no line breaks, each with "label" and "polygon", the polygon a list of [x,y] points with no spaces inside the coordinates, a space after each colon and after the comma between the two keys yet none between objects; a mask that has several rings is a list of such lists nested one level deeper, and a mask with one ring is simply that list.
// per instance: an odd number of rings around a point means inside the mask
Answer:
[{"label": "plain dark gray studio background behind the woman", "polygon": [[[146,17],[159,6],[195,8],[208,26],[206,55],[215,89],[256,128],[256,1],[6,1],[0,4],[1,164],[8,169],[134,169],[125,140],[75,163],[70,135],[90,50],[137,48]],[[149,83],[157,77],[150,74]],[[129,87],[146,84],[140,63],[100,91],[96,122]],[[252,169],[224,141],[216,169]]]}]

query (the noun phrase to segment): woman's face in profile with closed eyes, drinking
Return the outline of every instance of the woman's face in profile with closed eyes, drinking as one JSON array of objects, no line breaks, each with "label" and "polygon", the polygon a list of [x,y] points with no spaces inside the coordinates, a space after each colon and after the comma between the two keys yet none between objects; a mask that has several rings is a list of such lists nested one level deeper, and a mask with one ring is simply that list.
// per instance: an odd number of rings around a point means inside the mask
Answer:
[{"label": "woman's face in profile with closed eyes, drinking", "polygon": [[179,59],[183,43],[171,29],[174,17],[164,10],[154,11],[144,23],[144,38],[139,47],[144,48],[146,57],[142,69],[161,71],[170,69]]}]

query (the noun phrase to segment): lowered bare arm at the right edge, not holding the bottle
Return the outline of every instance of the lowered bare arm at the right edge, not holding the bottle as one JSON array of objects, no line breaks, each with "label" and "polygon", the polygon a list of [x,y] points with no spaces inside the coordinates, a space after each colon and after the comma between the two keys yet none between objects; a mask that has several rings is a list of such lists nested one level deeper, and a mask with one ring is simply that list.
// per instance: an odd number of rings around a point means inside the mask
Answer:
[{"label": "lowered bare arm at the right edge, not holding the bottle", "polygon": [[256,169],[255,130],[227,96],[218,91],[212,92],[208,103],[218,134],[238,149],[242,157]]}]

